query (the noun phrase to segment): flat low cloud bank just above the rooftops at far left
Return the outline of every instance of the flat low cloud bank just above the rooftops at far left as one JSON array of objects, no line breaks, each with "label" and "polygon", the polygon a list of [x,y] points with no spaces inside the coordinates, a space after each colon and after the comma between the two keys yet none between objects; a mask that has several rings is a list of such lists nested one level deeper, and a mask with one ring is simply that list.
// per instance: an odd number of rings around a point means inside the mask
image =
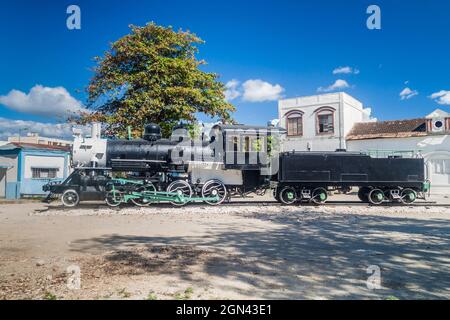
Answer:
[{"label": "flat low cloud bank just above the rooftops at far left", "polygon": [[[38,133],[42,137],[72,139],[72,127],[70,123],[43,123],[36,121],[11,120],[0,117],[0,140],[8,140],[8,137]],[[88,133],[89,128],[83,127],[83,132]]]}]

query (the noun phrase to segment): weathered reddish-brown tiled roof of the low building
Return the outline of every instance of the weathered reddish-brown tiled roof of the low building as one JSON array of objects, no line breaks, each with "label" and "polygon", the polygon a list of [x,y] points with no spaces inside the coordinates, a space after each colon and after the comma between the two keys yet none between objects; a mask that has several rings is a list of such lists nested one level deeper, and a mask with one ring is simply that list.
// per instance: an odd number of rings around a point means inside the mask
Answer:
[{"label": "weathered reddish-brown tiled roof of the low building", "polygon": [[426,119],[356,123],[347,140],[426,136]]}]

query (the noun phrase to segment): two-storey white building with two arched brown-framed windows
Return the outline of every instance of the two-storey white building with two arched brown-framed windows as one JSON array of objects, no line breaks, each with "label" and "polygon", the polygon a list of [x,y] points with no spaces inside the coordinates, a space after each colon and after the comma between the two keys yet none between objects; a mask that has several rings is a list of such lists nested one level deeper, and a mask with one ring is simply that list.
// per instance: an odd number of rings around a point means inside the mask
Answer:
[{"label": "two-storey white building with two arched brown-framed windows", "polygon": [[345,136],[367,113],[360,101],[338,92],[280,100],[278,118],[287,130],[283,151],[334,151],[346,149]]}]

